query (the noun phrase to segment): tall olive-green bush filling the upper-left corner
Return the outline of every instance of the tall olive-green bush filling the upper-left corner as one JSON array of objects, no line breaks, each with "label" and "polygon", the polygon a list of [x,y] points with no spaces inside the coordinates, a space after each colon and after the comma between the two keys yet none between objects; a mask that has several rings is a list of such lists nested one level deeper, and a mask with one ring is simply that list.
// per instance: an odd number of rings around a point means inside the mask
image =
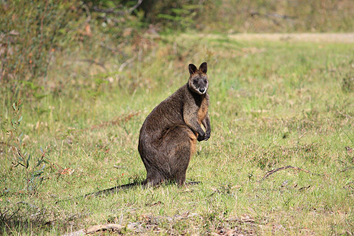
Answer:
[{"label": "tall olive-green bush filling the upper-left corner", "polygon": [[78,40],[78,1],[3,1],[0,14],[1,93],[6,104],[21,96],[41,96],[58,50]]}]

